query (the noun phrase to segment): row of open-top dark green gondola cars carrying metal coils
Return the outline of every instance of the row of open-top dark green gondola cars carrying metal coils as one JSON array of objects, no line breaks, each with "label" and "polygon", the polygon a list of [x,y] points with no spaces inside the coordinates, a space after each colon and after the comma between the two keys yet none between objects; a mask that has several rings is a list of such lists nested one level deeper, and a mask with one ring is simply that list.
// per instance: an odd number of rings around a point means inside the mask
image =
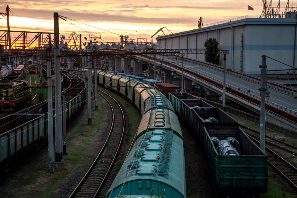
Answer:
[{"label": "row of open-top dark green gondola cars carrying metal coils", "polygon": [[[204,150],[219,194],[254,197],[267,192],[268,156],[238,127],[236,120],[188,93],[170,93],[169,100]],[[216,120],[211,122],[211,117]],[[215,138],[229,137],[239,143],[237,151],[230,148],[236,155],[223,155],[216,147]]]}]

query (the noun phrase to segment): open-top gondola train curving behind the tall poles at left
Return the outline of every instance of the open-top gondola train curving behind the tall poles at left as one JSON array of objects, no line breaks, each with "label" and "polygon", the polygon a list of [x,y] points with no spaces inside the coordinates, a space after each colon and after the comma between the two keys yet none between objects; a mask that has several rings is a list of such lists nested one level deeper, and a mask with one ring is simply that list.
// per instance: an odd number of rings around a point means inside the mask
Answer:
[{"label": "open-top gondola train curving behind the tall poles at left", "polygon": [[[69,123],[85,103],[86,84],[74,74],[64,71],[61,73],[64,85],[67,85],[66,104],[62,105],[62,110],[66,107],[66,123]],[[47,112],[48,104],[45,101],[0,119],[1,172],[5,172],[10,166],[47,142]],[[53,109],[53,114],[55,114],[55,109]]]}]

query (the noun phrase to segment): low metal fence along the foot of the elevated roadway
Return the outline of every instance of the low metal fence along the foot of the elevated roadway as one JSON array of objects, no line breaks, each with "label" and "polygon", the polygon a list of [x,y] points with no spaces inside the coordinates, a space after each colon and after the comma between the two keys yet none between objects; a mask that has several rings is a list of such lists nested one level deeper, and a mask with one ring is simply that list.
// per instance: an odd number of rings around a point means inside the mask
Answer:
[{"label": "low metal fence along the foot of the elevated roadway", "polygon": [[[210,104],[210,105],[212,105],[214,107],[218,107],[220,109],[222,109],[222,107],[223,107],[223,105],[220,104],[220,103],[217,103],[217,102],[214,102],[214,101],[211,101],[211,100],[206,100],[204,98],[200,98],[200,99],[204,100],[205,102],[207,102],[208,104]],[[242,118],[244,118],[244,119],[246,119],[248,121],[254,122],[256,124],[260,124],[260,117],[257,117],[255,115],[246,113],[244,111],[240,111],[238,109],[234,109],[234,108],[232,108],[230,106],[226,106],[226,111],[231,113],[231,114],[234,114],[234,115],[236,115],[238,117],[242,117]],[[295,129],[291,129],[291,128],[288,128],[286,126],[282,126],[282,125],[279,125],[277,123],[270,122],[268,120],[266,120],[265,126],[266,126],[266,128],[269,128],[269,129],[271,129],[273,131],[285,134],[287,136],[290,136],[290,137],[293,137],[293,138],[296,139],[297,130],[295,130]]]}]

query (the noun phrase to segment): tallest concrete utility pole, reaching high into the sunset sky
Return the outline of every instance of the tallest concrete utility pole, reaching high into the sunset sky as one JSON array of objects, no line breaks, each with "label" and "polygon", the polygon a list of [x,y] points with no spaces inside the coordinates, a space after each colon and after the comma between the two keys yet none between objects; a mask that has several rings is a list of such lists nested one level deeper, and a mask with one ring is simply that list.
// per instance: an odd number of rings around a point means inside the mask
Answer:
[{"label": "tallest concrete utility pole, reaching high into the sunset sky", "polygon": [[56,162],[63,159],[62,142],[62,110],[61,110],[61,71],[60,71],[60,49],[59,49],[59,13],[54,12],[55,33],[55,140],[56,140]]}]

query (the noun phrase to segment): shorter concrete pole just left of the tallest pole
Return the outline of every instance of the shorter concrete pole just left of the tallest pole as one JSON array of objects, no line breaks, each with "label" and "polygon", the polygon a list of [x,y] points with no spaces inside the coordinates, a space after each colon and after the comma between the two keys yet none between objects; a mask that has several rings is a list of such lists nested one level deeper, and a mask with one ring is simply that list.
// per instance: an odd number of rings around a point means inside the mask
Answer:
[{"label": "shorter concrete pole just left of the tallest pole", "polygon": [[48,71],[48,172],[54,172],[54,134],[53,134],[53,100],[51,48],[46,49]]}]

